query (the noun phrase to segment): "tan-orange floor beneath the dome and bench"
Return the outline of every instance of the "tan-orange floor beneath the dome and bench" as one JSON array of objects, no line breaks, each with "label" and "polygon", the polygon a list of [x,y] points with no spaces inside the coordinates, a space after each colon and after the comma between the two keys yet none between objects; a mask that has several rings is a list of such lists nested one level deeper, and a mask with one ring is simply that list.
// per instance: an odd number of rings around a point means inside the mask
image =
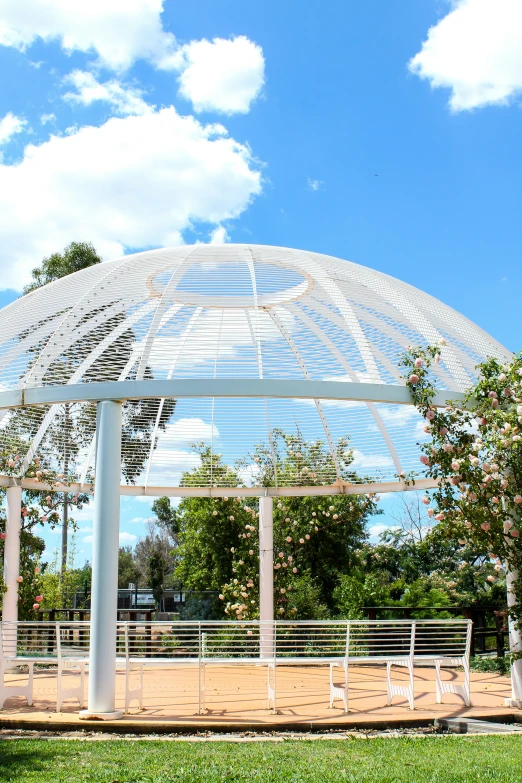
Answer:
[{"label": "tan-orange floor beneath the dome and bench", "polygon": [[[66,674],[64,677],[77,675]],[[397,670],[394,678],[405,679],[406,672]],[[446,678],[462,679],[461,673],[445,672]],[[23,675],[8,675],[7,680],[22,680]],[[72,683],[71,683],[72,684]],[[392,725],[396,721],[416,722],[435,717],[468,715],[475,717],[500,717],[513,710],[504,706],[504,698],[510,696],[509,678],[490,673],[472,673],[472,707],[466,708],[462,699],[447,694],[444,704],[435,702],[435,676],[431,668],[415,670],[415,710],[408,709],[406,700],[394,699],[386,706],[386,670],[384,667],[350,668],[350,711],[345,714],[341,702],[334,709],[328,708],[328,667],[280,667],[277,670],[277,714],[267,709],[266,670],[261,667],[209,667],[206,676],[206,710],[198,715],[198,673],[196,669],[172,667],[149,669],[144,675],[144,708],[131,708],[131,714],[122,723],[153,727],[161,724],[192,726],[195,729],[221,724],[238,729],[249,727],[259,730],[281,728],[284,725],[303,728],[335,725],[361,726],[372,724]],[[87,691],[87,685],[86,685]],[[116,707],[123,708],[124,677],[117,676]],[[79,706],[75,700],[64,704],[63,712],[55,712],[56,674],[35,674],[34,704],[28,707],[25,699],[11,698],[0,711],[0,724],[78,723],[86,726],[78,717]],[[97,724],[98,726],[100,724]],[[104,724],[106,725],[106,724]]]}]

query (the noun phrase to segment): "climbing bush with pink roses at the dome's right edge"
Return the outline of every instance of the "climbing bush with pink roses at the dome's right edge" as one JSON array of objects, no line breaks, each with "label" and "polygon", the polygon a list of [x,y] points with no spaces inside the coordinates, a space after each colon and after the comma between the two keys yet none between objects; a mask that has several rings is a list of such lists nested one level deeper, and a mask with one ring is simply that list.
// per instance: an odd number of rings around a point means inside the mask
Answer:
[{"label": "climbing bush with pink roses at the dome's right edge", "polygon": [[[522,576],[522,353],[509,364],[488,359],[478,365],[478,381],[458,404],[434,406],[430,367],[444,362],[444,341],[409,348],[400,364],[406,385],[426,421],[431,441],[422,444],[426,475],[438,481],[428,515],[464,547],[489,552],[496,573]],[[488,576],[489,582],[495,576]],[[522,580],[512,585],[513,621],[522,619]]]}]

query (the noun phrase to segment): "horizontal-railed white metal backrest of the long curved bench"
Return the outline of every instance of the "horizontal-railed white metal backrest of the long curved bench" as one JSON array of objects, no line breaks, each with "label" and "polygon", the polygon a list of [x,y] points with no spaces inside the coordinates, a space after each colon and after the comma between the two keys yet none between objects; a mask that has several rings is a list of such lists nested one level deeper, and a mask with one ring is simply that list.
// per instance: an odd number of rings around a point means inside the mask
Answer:
[{"label": "horizontal-railed white metal backrest of the long curved bench", "polygon": [[[116,623],[116,656],[125,660],[225,663],[253,659],[397,658],[469,654],[469,620],[128,621]],[[88,658],[90,622],[1,623],[3,657]]]}]

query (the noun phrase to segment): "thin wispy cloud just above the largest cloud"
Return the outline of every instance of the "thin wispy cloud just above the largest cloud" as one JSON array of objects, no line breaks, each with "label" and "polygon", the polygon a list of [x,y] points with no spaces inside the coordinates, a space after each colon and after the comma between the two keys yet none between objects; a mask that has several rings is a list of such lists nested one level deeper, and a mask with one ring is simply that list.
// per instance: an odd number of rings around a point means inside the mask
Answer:
[{"label": "thin wispy cloud just above the largest cloud", "polygon": [[102,101],[112,106],[115,114],[122,116],[146,114],[154,109],[143,100],[143,92],[138,87],[125,86],[116,79],[101,84],[89,71],[73,71],[65,77],[64,83],[71,84],[76,90],[63,96],[69,103],[90,106],[95,101]]}]

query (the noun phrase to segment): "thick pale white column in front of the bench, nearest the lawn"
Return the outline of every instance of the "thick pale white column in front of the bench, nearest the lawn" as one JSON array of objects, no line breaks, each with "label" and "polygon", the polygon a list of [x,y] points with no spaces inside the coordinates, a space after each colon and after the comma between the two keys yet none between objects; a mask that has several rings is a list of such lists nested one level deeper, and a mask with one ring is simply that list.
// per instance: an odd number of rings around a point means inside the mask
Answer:
[{"label": "thick pale white column in front of the bench, nearest the lawn", "polygon": [[98,403],[92,543],[88,709],[80,718],[116,720],[116,618],[121,480],[121,402]]}]

